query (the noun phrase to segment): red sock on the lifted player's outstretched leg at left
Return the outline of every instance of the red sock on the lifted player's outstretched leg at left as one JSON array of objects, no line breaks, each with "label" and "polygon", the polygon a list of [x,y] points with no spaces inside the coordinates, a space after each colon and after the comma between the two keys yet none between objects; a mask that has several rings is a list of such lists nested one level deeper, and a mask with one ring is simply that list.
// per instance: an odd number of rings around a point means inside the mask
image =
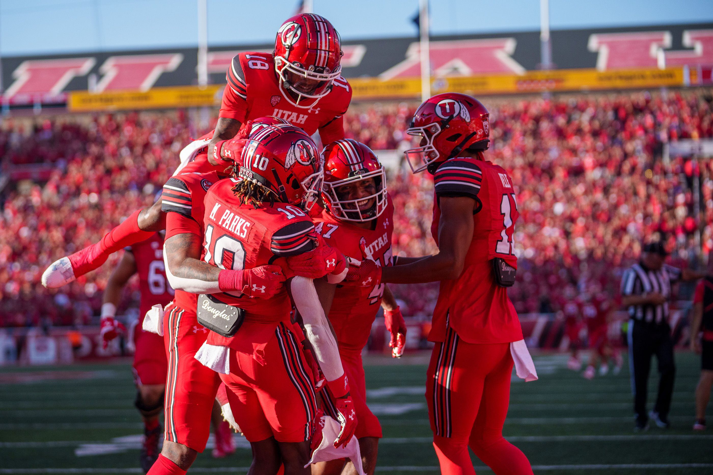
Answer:
[{"label": "red sock on the lifted player's outstretched leg at left", "polygon": [[68,256],[74,276],[83,276],[105,263],[106,259],[116,251],[150,238],[153,235],[153,231],[142,231],[138,227],[139,212],[140,210],[133,212],[116,228],[109,231],[98,243],[87,246],[81,251]]}]

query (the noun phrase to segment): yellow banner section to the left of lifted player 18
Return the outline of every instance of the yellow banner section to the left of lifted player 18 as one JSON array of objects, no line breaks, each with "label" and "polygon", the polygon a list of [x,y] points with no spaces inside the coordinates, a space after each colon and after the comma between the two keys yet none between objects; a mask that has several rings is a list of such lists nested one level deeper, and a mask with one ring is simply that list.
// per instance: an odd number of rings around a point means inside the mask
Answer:
[{"label": "yellow banner section to the left of lifted player 18", "polygon": [[93,110],[162,109],[220,105],[224,85],[153,88],[145,92],[120,90],[108,93],[74,91],[67,108],[71,112]]}]

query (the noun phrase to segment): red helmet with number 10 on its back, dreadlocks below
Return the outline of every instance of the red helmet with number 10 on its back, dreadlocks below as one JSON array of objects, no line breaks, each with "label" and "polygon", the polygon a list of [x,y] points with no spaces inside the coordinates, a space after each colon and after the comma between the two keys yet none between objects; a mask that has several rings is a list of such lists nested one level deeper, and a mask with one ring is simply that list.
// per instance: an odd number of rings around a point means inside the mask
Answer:
[{"label": "red helmet with number 10 on its back, dreadlocks below", "polygon": [[312,138],[294,125],[260,123],[247,139],[238,177],[261,184],[280,202],[309,211],[322,193],[323,176]]}]

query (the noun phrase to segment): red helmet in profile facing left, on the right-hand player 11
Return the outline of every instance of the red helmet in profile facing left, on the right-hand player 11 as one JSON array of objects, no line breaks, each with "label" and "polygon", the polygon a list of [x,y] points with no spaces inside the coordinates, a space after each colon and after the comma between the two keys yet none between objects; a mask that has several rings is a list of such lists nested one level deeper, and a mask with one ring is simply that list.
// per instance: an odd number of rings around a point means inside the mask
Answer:
[{"label": "red helmet in profile facing left, on the right-hand player 11", "polygon": [[404,153],[411,170],[422,172],[432,163],[456,157],[467,148],[487,150],[490,142],[488,110],[479,100],[466,94],[436,94],[419,105],[406,133],[421,137],[419,147]]}]

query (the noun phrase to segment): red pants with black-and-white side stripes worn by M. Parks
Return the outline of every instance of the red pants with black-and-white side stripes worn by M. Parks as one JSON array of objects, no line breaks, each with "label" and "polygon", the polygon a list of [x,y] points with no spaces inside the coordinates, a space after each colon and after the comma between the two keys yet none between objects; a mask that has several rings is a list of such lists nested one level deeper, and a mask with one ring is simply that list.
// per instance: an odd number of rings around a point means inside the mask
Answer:
[{"label": "red pants with black-and-white side stripes worn by M. Parks", "polygon": [[292,325],[245,322],[230,348],[230,374],[220,375],[235,422],[248,442],[275,437],[304,442],[312,437],[317,397]]}]

